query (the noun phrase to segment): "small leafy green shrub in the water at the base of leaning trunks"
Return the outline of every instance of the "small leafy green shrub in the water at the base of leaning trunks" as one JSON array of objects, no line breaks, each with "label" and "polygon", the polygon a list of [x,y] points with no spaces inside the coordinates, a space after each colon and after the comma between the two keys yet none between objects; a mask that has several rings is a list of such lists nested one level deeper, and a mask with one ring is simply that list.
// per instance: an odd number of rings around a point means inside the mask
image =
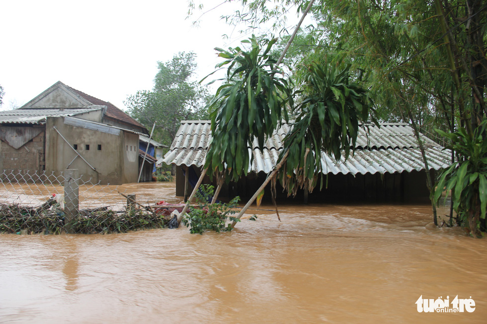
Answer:
[{"label": "small leafy green shrub in the water at the base of leaning trunks", "polygon": [[240,197],[235,197],[229,203],[216,202],[210,204],[208,201],[213,197],[213,186],[200,186],[196,193],[197,208],[191,208],[185,214],[182,222],[189,227],[191,234],[203,234],[205,231],[228,232],[232,230],[231,224],[227,221],[240,221],[231,215],[235,214],[235,208]]}]

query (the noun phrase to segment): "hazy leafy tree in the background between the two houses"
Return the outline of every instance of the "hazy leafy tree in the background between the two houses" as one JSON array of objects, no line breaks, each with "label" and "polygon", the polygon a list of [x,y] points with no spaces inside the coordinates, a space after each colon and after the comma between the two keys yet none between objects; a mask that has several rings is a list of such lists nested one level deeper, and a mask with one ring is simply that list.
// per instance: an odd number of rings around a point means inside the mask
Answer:
[{"label": "hazy leafy tree in the background between the two houses", "polygon": [[156,123],[154,138],[163,144],[171,144],[181,120],[208,118],[207,90],[191,80],[195,58],[194,53],[178,53],[166,63],[158,62],[152,91],[138,91],[124,102],[148,129]]}]

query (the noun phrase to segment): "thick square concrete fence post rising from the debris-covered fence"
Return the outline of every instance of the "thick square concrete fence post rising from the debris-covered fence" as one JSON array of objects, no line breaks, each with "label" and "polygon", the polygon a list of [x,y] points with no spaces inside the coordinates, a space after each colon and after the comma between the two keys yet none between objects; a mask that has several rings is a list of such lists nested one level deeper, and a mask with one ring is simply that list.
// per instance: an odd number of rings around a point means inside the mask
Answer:
[{"label": "thick square concrete fence post rising from the debris-covered fence", "polygon": [[73,220],[78,216],[80,206],[78,170],[67,169],[64,172],[64,179],[64,226],[68,233],[72,233]]}]

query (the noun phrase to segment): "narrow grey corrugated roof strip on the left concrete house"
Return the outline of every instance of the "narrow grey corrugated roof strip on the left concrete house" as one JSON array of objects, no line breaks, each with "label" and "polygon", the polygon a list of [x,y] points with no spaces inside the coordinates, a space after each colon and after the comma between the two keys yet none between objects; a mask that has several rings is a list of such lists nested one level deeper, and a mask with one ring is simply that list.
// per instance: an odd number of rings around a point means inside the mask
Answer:
[{"label": "narrow grey corrugated roof strip on the left concrete house", "polygon": [[77,116],[102,108],[14,109],[0,111],[1,124],[44,124],[51,116]]}]

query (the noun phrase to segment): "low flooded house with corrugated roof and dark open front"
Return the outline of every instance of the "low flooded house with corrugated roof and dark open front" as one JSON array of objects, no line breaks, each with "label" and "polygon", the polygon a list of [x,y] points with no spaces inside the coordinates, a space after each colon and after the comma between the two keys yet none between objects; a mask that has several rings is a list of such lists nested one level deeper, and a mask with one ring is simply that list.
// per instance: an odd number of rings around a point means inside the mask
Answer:
[{"label": "low flooded house with corrugated roof and dark open front", "polygon": [[[201,174],[211,139],[210,124],[210,121],[182,121],[169,151],[158,161],[176,165],[178,196],[187,195],[185,182],[189,183],[190,192]],[[289,125],[282,125],[267,139],[262,150],[255,139],[248,148],[251,153],[248,175],[238,182],[225,185],[220,195],[240,195],[245,200],[254,194],[276,165],[289,130]],[[449,150],[444,150],[423,134],[421,139],[430,170],[437,171],[451,164]],[[347,161],[344,161],[343,156],[340,161],[334,161],[323,153],[321,163],[323,189],[320,191],[318,185],[313,193],[298,192],[297,199],[418,201],[429,197],[419,145],[412,128],[407,124],[382,123],[380,127],[362,125],[355,152],[350,154]],[[204,183],[210,183],[208,177]],[[286,197],[279,185],[277,192],[280,198]]]}]

